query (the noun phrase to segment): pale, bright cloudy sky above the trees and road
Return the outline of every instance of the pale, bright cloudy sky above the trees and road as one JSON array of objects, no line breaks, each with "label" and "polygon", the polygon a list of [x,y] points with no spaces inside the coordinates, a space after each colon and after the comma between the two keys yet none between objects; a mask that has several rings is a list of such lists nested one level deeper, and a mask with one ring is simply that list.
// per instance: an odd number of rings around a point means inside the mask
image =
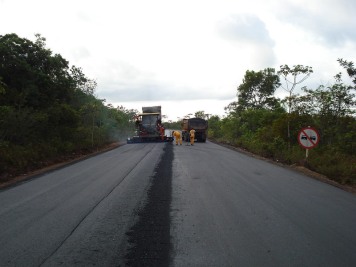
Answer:
[{"label": "pale, bright cloudy sky above the trees and road", "polygon": [[226,115],[247,70],[311,66],[310,89],[346,79],[337,59],[356,62],[355,13],[354,0],[0,0],[0,35],[39,33],[106,104],[160,105],[176,121]]}]

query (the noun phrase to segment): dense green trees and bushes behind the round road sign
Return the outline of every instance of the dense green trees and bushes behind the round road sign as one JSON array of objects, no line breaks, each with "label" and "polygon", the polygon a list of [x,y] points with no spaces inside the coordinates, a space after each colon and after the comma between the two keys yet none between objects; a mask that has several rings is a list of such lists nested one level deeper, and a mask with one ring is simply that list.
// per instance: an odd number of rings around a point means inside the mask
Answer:
[{"label": "dense green trees and bushes behind the round road sign", "polygon": [[[352,62],[338,62],[353,85],[344,84],[338,73],[334,84],[303,87],[302,95],[293,90],[311,75],[311,67],[284,65],[278,72],[246,71],[237,88],[238,100],[226,107],[227,116],[209,119],[209,137],[356,185],[356,69]],[[285,99],[274,96],[279,86],[288,92]],[[320,134],[320,142],[308,158],[297,140],[298,132],[307,126]]]}]

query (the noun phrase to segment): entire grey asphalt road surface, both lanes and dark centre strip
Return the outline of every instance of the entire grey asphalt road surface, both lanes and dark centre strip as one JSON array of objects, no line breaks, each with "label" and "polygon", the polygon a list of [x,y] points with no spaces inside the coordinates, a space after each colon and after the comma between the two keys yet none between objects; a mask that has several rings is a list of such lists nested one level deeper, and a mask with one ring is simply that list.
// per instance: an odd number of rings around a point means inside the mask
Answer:
[{"label": "entire grey asphalt road surface, both lanes and dark centre strip", "polygon": [[356,266],[356,196],[210,142],[124,145],[1,190],[0,266]]}]

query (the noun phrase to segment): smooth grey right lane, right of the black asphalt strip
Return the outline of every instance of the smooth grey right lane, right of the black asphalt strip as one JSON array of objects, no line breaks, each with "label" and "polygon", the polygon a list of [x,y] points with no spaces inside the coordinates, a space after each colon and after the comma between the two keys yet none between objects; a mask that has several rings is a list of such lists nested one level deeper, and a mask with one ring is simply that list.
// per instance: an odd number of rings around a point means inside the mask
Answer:
[{"label": "smooth grey right lane, right of the black asphalt strip", "polygon": [[207,143],[174,147],[175,266],[356,266],[356,196]]}]

